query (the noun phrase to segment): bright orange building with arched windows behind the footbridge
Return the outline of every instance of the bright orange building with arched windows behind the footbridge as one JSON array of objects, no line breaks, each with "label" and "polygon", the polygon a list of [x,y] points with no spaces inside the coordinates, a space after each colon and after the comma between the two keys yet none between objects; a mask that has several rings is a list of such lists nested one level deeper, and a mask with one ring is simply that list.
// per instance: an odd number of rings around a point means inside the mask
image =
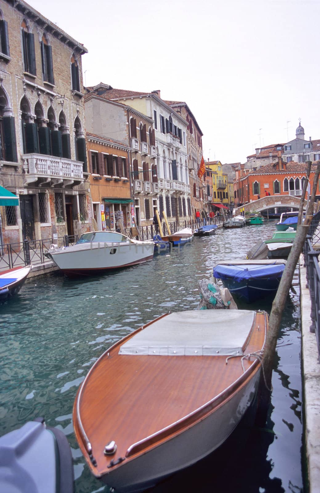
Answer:
[{"label": "bright orange building with arched windows behind the footbridge", "polygon": [[[312,165],[311,170],[310,184],[312,189],[316,164]],[[249,170],[244,170],[243,167],[236,171],[234,182],[236,207],[265,195],[300,197],[306,178],[306,163],[285,163],[279,156],[276,163],[246,173],[247,171]],[[317,195],[319,195],[319,184]]]}]

